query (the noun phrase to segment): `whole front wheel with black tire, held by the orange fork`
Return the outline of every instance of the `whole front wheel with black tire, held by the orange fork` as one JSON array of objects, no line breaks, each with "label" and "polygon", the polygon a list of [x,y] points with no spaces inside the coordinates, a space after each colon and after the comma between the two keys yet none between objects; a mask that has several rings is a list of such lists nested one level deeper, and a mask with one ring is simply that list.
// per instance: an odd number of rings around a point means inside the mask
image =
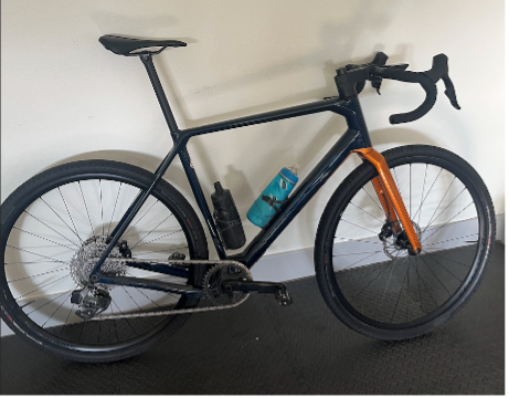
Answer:
[{"label": "whole front wheel with black tire, held by the orange fork", "polygon": [[496,224],[485,184],[457,155],[431,146],[382,155],[422,254],[412,255],[390,228],[385,203],[372,185],[377,170],[364,163],[324,211],[315,266],[321,294],[338,318],[364,335],[399,341],[443,325],[468,301],[489,260]]}]

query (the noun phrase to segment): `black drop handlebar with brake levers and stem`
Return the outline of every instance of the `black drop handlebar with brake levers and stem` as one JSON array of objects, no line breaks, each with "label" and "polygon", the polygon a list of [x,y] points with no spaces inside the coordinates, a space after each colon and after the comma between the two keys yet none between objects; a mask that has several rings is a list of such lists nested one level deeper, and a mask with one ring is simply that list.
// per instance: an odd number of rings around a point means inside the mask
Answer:
[{"label": "black drop handlebar with brake levers and stem", "polygon": [[[373,62],[364,65],[347,65],[344,69],[337,71],[336,84],[339,94],[342,98],[351,98],[363,88],[365,81],[371,81],[377,91],[380,90],[383,78],[391,78],[406,83],[418,83],[426,92],[426,100],[415,111],[392,115],[389,121],[391,124],[401,124],[414,122],[426,115],[435,105],[437,98],[436,83],[443,80],[445,83],[445,94],[456,109],[460,109],[457,98],[456,90],[448,72],[448,59],[445,54],[438,54],[433,57],[433,67],[426,72],[410,72],[405,71],[409,66],[403,65],[388,65],[385,62],[388,56],[384,53],[377,53]],[[360,88],[361,90],[356,90]],[[380,94],[380,91],[379,91]]]}]

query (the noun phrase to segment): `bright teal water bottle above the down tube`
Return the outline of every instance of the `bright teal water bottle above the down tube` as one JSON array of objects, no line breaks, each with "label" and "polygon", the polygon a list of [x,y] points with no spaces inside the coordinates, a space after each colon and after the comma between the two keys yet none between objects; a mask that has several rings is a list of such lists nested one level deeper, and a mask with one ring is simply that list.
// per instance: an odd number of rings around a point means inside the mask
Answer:
[{"label": "bright teal water bottle above the down tube", "polygon": [[247,219],[259,228],[267,224],[299,180],[297,177],[298,168],[298,165],[290,168],[284,167],[274,177],[247,211]]}]

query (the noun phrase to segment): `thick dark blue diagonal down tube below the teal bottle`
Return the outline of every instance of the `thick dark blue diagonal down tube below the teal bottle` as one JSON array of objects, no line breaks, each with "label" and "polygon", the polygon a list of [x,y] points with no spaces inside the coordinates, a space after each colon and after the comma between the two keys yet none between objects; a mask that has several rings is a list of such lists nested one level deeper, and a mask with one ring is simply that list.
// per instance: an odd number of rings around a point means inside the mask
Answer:
[{"label": "thick dark blue diagonal down tube below the teal bottle", "polygon": [[351,151],[364,147],[360,132],[347,130],[237,259],[246,266],[253,266]]}]

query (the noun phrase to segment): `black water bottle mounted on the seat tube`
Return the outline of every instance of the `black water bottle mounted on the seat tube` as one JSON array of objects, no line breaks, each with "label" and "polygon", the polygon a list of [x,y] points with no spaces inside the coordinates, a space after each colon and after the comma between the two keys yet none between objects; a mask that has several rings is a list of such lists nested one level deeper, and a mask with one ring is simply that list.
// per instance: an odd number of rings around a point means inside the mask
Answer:
[{"label": "black water bottle mounted on the seat tube", "polygon": [[229,189],[223,189],[221,182],[214,182],[214,188],[212,205],[219,233],[226,249],[240,249],[245,244],[245,234],[232,193]]}]

